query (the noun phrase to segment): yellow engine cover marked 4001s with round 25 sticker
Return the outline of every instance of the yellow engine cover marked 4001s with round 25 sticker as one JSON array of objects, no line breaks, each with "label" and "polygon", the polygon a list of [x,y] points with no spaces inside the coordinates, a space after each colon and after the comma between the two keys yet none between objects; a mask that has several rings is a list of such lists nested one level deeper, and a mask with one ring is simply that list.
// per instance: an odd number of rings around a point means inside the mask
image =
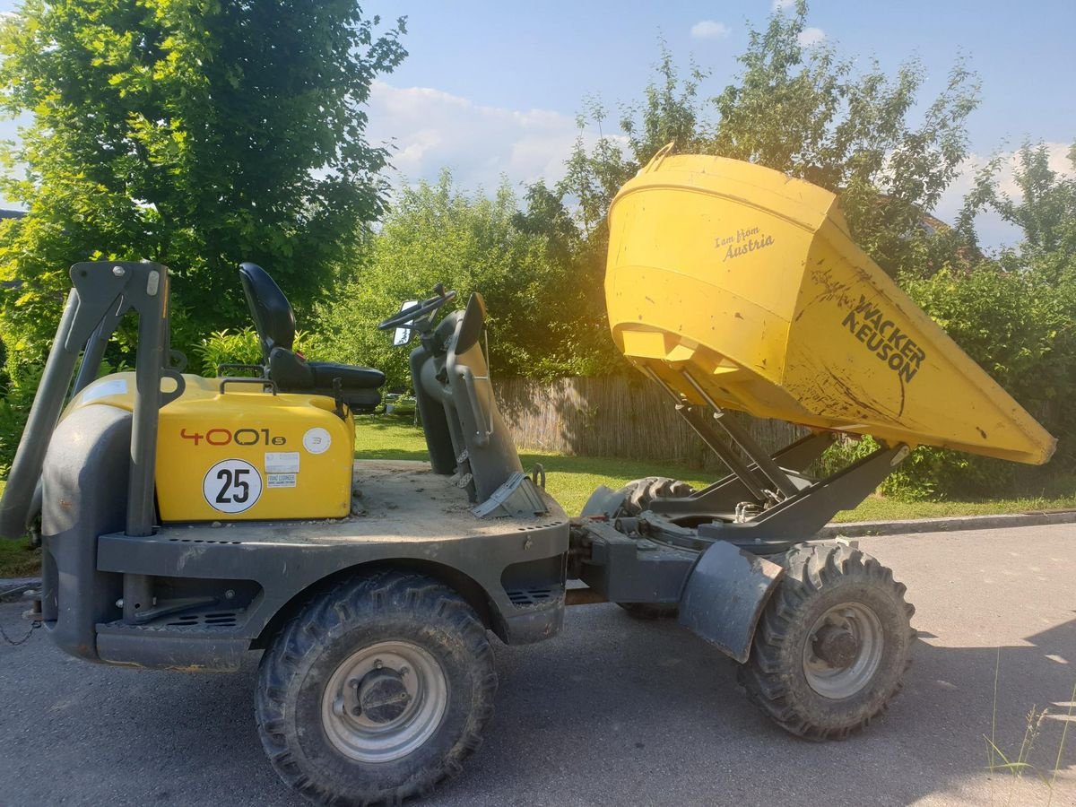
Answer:
[{"label": "yellow engine cover marked 4001s with round 25 sticker", "polygon": [[[355,422],[320,395],[272,395],[184,376],[160,410],[157,506],[164,522],[335,519],[351,509]],[[168,383],[167,381],[165,382]],[[105,376],[70,408],[133,409],[134,373]]]}]

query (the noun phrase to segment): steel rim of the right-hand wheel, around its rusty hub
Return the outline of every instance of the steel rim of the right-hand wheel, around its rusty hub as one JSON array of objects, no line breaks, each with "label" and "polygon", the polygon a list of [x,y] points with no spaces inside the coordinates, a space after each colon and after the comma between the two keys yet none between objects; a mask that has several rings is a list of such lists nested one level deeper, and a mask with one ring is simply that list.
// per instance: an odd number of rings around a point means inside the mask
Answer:
[{"label": "steel rim of the right-hand wheel, around its rusty hub", "polygon": [[[817,637],[824,628],[847,631],[855,640],[849,664],[833,665],[818,656]],[[867,606],[841,603],[819,617],[804,642],[804,676],[819,695],[834,700],[851,697],[866,686],[881,666],[884,650],[881,621]]]}]

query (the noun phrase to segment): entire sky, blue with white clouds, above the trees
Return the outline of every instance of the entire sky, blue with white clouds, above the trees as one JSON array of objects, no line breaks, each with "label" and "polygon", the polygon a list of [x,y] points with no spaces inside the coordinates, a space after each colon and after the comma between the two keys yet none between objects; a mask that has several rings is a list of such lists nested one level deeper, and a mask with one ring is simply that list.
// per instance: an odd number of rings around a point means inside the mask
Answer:
[{"label": "entire sky, blue with white clouds, above the trees", "polygon": [[[0,11],[15,5],[0,0]],[[763,26],[774,8],[774,0],[368,0],[368,14],[408,16],[410,51],[373,88],[369,133],[395,143],[406,180],[434,179],[443,167],[470,188],[501,175],[515,185],[556,180],[585,99],[599,96],[613,110],[638,99],[659,36],[681,63],[693,57],[711,72],[702,90],[713,95],[735,75],[748,20]],[[943,218],[954,213],[978,161],[1025,138],[1051,144],[1053,165],[1065,168],[1076,140],[1076,0],[816,0],[808,24],[815,39],[864,65],[876,57],[892,71],[917,56],[929,74],[926,99],[961,54],[979,73],[973,156],[939,206]],[[0,125],[0,133],[10,131]],[[982,226],[990,242],[1011,240],[996,222]]]}]

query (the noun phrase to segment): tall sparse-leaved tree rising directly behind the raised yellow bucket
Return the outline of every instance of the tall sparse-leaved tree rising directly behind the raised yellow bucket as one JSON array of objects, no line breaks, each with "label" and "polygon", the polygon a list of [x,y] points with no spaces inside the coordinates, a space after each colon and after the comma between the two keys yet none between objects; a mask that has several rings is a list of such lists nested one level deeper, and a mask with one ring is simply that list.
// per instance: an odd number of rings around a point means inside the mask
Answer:
[{"label": "tall sparse-leaved tree rising directly behind the raised yellow bucket", "polygon": [[712,100],[709,153],[759,162],[839,195],[852,238],[887,272],[937,271],[923,215],[966,156],[966,119],[978,82],[962,61],[912,123],[926,74],[918,60],[887,76],[877,61],[858,74],[830,45],[805,47],[807,4],[752,30],[742,72]]}]

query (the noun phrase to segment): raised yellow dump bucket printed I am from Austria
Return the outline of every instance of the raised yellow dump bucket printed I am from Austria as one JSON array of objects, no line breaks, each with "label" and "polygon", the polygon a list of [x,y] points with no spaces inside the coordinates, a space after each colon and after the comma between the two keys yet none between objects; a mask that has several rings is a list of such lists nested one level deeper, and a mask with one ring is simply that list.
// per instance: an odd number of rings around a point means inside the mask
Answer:
[{"label": "raised yellow dump bucket printed I am from Austria", "polygon": [[613,339],[690,401],[1021,463],[1053,453],[852,243],[827,190],[738,160],[659,154],[617,195],[609,227]]}]

